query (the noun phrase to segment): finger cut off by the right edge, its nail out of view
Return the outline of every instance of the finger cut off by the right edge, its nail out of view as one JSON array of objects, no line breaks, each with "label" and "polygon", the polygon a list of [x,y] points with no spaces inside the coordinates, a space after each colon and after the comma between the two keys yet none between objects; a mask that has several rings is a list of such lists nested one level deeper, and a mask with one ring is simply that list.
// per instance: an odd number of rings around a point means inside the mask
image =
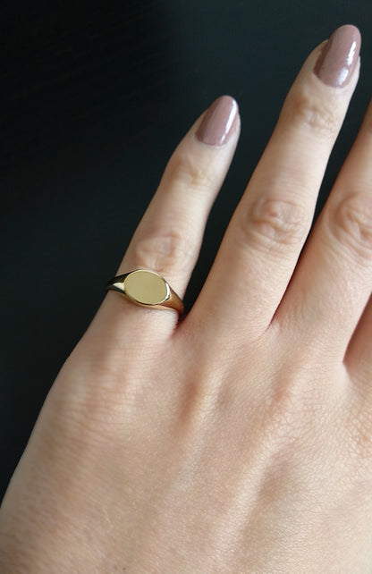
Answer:
[{"label": "finger cut off by the right edge, its nail out of view", "polygon": [[344,358],[372,288],[372,104],[300,259],[277,321]]}]

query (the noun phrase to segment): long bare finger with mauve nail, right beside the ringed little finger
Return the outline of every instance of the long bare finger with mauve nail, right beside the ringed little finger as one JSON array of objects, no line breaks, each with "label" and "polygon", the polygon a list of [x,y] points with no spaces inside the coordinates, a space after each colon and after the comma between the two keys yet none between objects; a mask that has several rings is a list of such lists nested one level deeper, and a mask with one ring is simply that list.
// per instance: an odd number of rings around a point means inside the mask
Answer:
[{"label": "long bare finger with mauve nail, right beside the ringed little finger", "polygon": [[359,31],[343,26],[309,55],[186,323],[213,315],[214,329],[231,323],[245,336],[270,324],[309,232],[358,80],[358,54]]}]

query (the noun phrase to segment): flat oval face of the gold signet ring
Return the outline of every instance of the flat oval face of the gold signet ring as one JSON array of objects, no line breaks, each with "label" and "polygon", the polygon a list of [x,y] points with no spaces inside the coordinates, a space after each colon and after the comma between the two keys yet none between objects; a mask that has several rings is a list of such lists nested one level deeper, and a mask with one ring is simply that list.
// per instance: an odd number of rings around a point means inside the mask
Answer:
[{"label": "flat oval face of the gold signet ring", "polygon": [[165,280],[154,271],[138,269],[124,280],[125,293],[142,305],[160,305],[169,296]]}]

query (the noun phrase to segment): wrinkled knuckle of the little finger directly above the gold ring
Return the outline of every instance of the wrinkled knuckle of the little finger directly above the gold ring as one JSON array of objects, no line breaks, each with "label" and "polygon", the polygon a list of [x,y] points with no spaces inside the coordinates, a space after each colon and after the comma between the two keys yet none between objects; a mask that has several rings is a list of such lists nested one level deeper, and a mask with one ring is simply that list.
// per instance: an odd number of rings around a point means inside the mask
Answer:
[{"label": "wrinkled knuckle of the little finger directly above the gold ring", "polygon": [[155,269],[158,273],[189,266],[195,246],[181,232],[152,232],[135,241],[132,258],[136,266]]}]

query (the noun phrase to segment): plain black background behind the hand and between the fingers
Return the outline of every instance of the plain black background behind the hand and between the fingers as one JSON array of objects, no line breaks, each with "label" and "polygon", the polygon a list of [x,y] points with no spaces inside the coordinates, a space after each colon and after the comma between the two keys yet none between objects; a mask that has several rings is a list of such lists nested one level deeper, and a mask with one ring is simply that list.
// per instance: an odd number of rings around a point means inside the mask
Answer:
[{"label": "plain black background behind the hand and between the fingers", "polygon": [[238,100],[241,141],[186,308],[303,60],[352,23],[361,76],[324,203],[370,97],[371,22],[371,0],[2,3],[0,496],[191,123],[222,94]]}]

